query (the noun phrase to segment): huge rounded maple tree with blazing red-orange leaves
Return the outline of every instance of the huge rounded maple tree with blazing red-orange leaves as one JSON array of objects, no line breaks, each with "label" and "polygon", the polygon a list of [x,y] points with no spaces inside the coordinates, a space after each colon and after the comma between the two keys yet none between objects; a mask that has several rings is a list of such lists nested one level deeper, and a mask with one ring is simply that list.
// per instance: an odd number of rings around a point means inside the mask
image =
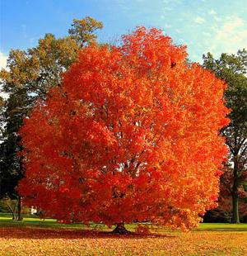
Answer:
[{"label": "huge rounded maple tree with blazing red-orange leaves", "polygon": [[225,84],[185,46],[138,27],[88,45],[21,128],[26,202],[64,222],[149,220],[189,229],[214,206]]}]

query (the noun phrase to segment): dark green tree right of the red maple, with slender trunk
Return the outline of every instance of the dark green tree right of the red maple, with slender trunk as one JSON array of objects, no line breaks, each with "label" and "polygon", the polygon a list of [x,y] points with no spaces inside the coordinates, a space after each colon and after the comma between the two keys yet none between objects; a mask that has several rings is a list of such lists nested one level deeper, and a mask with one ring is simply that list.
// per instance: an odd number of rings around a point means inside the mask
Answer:
[{"label": "dark green tree right of the red maple, with slender trunk", "polygon": [[[247,172],[247,52],[244,49],[239,50],[236,55],[222,54],[219,59],[214,59],[208,53],[203,55],[203,66],[227,83],[224,97],[226,106],[232,110],[229,114],[231,123],[221,130],[221,134],[226,137],[230,152],[227,173],[222,176],[221,183],[226,184],[231,191],[232,222],[238,223],[240,191],[246,183]],[[229,178],[230,187],[227,186]]]}]

